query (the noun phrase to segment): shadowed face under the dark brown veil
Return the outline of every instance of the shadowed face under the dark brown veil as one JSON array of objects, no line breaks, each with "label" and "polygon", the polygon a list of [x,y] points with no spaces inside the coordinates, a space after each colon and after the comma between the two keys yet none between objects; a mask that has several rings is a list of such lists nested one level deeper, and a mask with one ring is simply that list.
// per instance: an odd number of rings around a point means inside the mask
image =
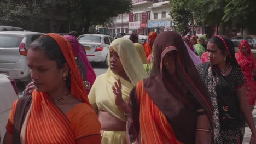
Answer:
[{"label": "shadowed face under the dark brown veil", "polygon": [[172,50],[164,56],[162,64],[166,68],[169,74],[173,75],[176,74],[176,58],[177,58],[177,51]]}]

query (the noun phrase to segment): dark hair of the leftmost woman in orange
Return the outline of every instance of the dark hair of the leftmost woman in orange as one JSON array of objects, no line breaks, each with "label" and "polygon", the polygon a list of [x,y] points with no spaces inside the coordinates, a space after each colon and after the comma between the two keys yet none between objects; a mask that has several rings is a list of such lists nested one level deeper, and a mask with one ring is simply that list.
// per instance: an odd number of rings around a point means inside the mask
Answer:
[{"label": "dark hair of the leftmost woman in orange", "polygon": [[[37,38],[30,45],[31,50],[43,51],[45,56],[51,60],[55,61],[58,69],[62,69],[67,63],[60,46],[56,41],[49,37],[48,35],[43,35],[42,37]],[[66,77],[66,85],[68,89],[71,87],[70,73]]]}]

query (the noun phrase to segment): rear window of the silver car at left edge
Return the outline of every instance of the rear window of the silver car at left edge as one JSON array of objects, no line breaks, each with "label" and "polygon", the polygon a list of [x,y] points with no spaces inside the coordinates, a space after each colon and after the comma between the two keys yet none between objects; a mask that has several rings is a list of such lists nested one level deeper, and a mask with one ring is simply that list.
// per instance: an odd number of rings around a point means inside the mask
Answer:
[{"label": "rear window of the silver car at left edge", "polygon": [[0,35],[0,47],[2,48],[19,47],[22,39],[23,39],[23,36]]}]

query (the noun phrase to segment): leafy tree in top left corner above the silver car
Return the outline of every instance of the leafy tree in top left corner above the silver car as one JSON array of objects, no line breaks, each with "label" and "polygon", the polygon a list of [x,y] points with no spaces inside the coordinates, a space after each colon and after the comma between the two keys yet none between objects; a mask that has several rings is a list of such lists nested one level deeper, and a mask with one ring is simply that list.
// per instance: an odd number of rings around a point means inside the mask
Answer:
[{"label": "leafy tree in top left corner above the silver car", "polygon": [[41,22],[46,0],[2,0],[0,1],[0,25],[22,26],[33,31],[36,23]]}]

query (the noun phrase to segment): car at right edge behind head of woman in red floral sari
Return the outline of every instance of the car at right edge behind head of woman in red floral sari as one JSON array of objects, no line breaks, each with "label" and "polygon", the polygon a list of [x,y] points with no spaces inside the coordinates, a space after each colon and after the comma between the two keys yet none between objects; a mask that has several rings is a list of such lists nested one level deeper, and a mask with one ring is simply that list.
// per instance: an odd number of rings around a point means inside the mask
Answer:
[{"label": "car at right edge behind head of woman in red floral sari", "polygon": [[248,40],[248,42],[251,46],[251,51],[256,60],[256,35],[239,35],[239,36],[230,38],[230,40],[233,42],[233,44],[235,46],[235,52],[239,51],[239,44],[242,39]]}]

